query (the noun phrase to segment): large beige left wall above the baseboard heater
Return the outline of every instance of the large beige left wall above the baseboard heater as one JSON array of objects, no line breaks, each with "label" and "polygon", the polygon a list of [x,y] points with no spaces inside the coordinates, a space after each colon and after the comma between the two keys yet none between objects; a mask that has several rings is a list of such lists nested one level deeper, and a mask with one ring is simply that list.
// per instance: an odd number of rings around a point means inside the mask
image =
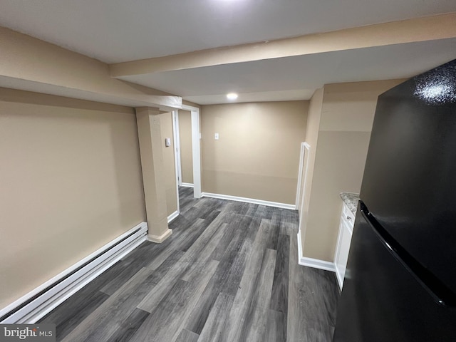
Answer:
[{"label": "large beige left wall above the baseboard heater", "polygon": [[132,108],[0,88],[0,308],[145,221]]}]

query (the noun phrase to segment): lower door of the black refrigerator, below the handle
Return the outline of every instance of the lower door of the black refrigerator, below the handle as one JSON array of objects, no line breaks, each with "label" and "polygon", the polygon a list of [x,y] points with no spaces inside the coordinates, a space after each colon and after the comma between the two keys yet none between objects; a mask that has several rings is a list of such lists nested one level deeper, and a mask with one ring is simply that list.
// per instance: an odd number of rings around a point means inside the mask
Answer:
[{"label": "lower door of the black refrigerator, below the handle", "polygon": [[333,342],[456,341],[456,311],[429,289],[358,210]]}]

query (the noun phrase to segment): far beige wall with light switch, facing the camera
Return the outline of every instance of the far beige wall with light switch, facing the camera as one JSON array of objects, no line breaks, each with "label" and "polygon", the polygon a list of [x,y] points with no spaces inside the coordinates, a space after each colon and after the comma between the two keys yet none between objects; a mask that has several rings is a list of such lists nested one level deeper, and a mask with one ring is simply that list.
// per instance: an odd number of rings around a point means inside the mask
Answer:
[{"label": "far beige wall with light switch, facing the camera", "polygon": [[295,204],[308,105],[203,105],[203,192]]}]

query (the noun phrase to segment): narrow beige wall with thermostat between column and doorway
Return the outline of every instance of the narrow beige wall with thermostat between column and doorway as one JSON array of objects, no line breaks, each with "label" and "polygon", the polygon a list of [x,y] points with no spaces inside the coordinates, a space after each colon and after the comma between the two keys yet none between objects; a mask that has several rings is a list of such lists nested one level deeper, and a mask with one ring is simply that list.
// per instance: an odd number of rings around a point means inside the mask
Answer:
[{"label": "narrow beige wall with thermostat between column and doorway", "polygon": [[[160,114],[160,130],[162,132],[163,167],[165,171],[166,207],[169,216],[177,210],[176,169],[174,139],[172,135],[172,114]],[[170,138],[171,145],[165,146],[165,138]]]}]

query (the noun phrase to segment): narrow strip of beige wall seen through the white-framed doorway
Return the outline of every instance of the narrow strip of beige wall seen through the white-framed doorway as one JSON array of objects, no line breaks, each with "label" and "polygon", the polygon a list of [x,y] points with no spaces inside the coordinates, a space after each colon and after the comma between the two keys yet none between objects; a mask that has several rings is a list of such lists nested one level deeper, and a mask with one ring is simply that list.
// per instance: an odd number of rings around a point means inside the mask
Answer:
[{"label": "narrow strip of beige wall seen through the white-framed doorway", "polygon": [[192,113],[179,110],[180,168],[182,182],[193,184]]}]

